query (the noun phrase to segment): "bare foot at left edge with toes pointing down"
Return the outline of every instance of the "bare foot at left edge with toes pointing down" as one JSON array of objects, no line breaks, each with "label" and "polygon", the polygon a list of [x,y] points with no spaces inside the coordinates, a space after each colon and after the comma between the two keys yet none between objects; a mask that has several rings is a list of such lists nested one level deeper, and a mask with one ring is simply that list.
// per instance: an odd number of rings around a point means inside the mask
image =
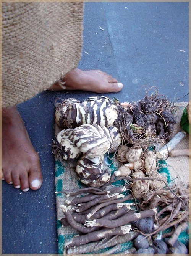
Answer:
[{"label": "bare foot at left edge with toes pointing down", "polygon": [[3,180],[21,188],[37,190],[42,185],[39,155],[31,144],[23,120],[16,109],[3,109]]}]

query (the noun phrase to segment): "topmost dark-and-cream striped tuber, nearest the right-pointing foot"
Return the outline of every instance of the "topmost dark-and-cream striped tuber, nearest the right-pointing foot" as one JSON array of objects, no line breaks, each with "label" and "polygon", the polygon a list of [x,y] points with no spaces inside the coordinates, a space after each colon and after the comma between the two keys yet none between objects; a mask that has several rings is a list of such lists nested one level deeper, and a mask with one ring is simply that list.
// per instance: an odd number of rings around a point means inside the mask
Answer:
[{"label": "topmost dark-and-cream striped tuber, nearest the right-pointing foot", "polygon": [[99,124],[110,127],[117,119],[117,106],[107,97],[90,97],[83,102],[66,99],[56,104],[55,122],[63,128],[82,124]]}]

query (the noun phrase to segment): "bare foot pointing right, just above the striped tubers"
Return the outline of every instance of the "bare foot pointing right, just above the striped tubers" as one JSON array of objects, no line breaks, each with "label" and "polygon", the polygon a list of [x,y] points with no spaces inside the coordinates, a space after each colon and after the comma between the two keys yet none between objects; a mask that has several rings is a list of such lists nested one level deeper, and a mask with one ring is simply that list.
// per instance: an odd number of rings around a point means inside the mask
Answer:
[{"label": "bare foot pointing right, just above the striped tubers", "polygon": [[[61,86],[60,86],[61,85]],[[65,74],[62,81],[49,88],[52,91],[82,90],[97,93],[118,92],[123,88],[115,78],[100,70],[83,71],[78,68]]]}]

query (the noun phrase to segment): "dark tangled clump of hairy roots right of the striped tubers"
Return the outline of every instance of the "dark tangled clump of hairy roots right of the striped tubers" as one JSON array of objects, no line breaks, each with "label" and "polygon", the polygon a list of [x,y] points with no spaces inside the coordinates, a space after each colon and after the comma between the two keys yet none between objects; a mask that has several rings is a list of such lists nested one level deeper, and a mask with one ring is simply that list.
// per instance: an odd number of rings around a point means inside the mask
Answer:
[{"label": "dark tangled clump of hairy roots right of the striped tubers", "polygon": [[136,103],[120,103],[115,126],[121,132],[125,144],[150,145],[155,138],[169,140],[176,123],[174,108],[164,96],[155,91]]}]

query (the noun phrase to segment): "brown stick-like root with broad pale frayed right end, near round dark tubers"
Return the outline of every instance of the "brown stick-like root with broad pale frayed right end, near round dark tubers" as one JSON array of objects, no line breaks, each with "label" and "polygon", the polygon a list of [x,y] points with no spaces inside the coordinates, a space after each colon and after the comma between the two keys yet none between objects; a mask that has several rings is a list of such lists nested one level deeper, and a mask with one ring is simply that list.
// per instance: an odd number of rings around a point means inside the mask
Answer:
[{"label": "brown stick-like root with broad pale frayed right end, near round dark tubers", "polygon": [[68,243],[65,244],[66,248],[79,246],[92,241],[98,241],[102,238],[113,236],[113,235],[125,235],[129,233],[131,225],[125,225],[118,228],[104,228],[102,230],[94,231],[90,234],[76,236],[72,238]]}]

